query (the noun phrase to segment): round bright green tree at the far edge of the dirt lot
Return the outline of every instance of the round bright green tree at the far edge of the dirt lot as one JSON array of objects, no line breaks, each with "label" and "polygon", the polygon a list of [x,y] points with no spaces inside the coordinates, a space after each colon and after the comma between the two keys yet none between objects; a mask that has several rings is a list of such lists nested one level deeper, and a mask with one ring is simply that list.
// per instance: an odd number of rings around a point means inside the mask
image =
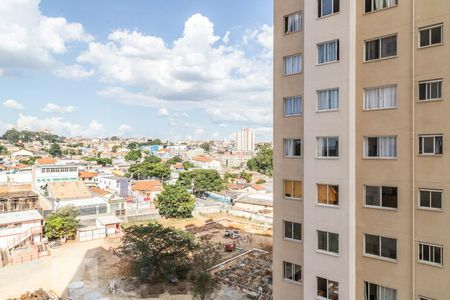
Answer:
[{"label": "round bright green tree at the far edge of the dirt lot", "polygon": [[186,188],[164,185],[164,191],[155,200],[159,214],[165,218],[190,218],[195,208],[195,198]]}]

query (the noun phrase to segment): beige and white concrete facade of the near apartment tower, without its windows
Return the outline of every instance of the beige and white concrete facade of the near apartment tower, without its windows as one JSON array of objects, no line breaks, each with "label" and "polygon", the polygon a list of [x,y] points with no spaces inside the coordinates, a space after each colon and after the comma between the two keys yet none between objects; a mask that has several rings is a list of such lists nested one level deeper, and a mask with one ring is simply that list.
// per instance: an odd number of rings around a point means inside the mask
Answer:
[{"label": "beige and white concrete facade of the near apartment tower, without its windows", "polygon": [[[366,13],[367,1],[341,0],[326,17],[319,2],[274,1],[274,299],[315,299],[317,277],[339,282],[340,300],[365,299],[365,282],[395,290],[393,299],[450,299],[450,1],[398,0]],[[302,28],[285,34],[295,12]],[[433,25],[442,42],[420,47],[419,31]],[[391,35],[396,55],[365,61],[366,42]],[[319,65],[317,45],[335,39],[339,59]],[[298,53],[302,72],[284,76],[283,58]],[[419,101],[419,82],[431,80],[442,80],[442,96]],[[365,90],[385,86],[396,87],[395,107],[366,110]],[[317,112],[327,88],[339,88],[339,107]],[[302,96],[301,115],[284,116],[290,96]],[[419,154],[420,135],[441,135],[443,153]],[[322,136],[339,138],[337,157],[317,157]],[[396,156],[367,158],[365,138],[383,136],[396,137]],[[301,157],[284,157],[287,138],[302,139]],[[303,182],[301,200],[284,197],[284,180]],[[337,207],[317,204],[318,183],[339,186]],[[396,187],[397,207],[366,205],[365,186]],[[421,189],[442,191],[442,208],[421,207]],[[301,241],[285,238],[283,221],[302,224]],[[339,234],[338,254],[317,251],[317,230]],[[365,254],[366,234],[395,239],[396,259]],[[442,247],[441,263],[419,261],[419,243]],[[301,282],[284,278],[284,262],[301,266]]]}]

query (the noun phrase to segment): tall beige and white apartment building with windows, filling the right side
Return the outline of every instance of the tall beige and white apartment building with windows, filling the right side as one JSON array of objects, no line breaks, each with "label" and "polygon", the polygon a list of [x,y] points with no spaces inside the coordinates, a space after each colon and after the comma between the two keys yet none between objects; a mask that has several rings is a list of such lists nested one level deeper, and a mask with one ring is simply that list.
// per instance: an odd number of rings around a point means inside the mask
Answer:
[{"label": "tall beige and white apartment building with windows, filling the right side", "polygon": [[450,1],[274,9],[274,299],[450,299]]}]

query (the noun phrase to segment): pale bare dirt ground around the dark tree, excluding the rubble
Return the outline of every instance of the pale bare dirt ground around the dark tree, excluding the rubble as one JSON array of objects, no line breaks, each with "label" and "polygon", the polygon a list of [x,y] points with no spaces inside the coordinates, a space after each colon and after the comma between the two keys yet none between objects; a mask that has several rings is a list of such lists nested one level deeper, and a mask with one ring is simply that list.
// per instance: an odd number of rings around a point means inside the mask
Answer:
[{"label": "pale bare dirt ground around the dark tree, excluding the rubble", "polygon": [[[196,216],[187,220],[158,220],[166,226],[173,226],[180,229],[191,227],[192,225],[204,225],[211,220],[228,219],[219,223],[220,229],[200,230],[199,235],[209,234],[215,242],[225,243],[228,239],[223,238],[224,228],[236,228],[242,236],[251,233],[263,233],[242,242],[239,247],[270,248],[271,229],[260,227],[240,218],[230,217],[225,214],[215,214],[207,216]],[[242,223],[242,222],[245,223]],[[210,225],[206,225],[209,228]],[[197,236],[197,234],[196,234]],[[177,286],[158,287],[140,285],[134,288],[133,284],[120,284],[121,277],[119,269],[119,259],[109,250],[110,247],[117,247],[119,240],[96,240],[89,242],[69,242],[57,249],[51,249],[51,255],[36,261],[7,266],[0,269],[0,299],[18,298],[26,292],[33,292],[42,288],[46,291],[53,291],[58,296],[68,295],[67,287],[70,283],[82,281],[84,287],[77,290],[77,295],[84,295],[85,299],[100,299],[102,297],[111,300],[122,299],[192,299],[188,291],[189,284]],[[237,255],[238,253],[234,253]],[[119,287],[119,293],[112,295],[110,286],[113,282]],[[212,299],[247,299],[245,294],[224,286],[218,290]]]}]

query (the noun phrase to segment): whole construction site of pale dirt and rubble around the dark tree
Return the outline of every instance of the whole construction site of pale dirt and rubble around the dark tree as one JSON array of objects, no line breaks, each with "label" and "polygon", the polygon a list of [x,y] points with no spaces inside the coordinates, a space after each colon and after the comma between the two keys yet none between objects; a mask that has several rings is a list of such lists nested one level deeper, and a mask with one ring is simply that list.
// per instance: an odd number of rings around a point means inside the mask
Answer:
[{"label": "whole construction site of pale dirt and rubble around the dark tree", "polygon": [[[188,220],[161,219],[208,239],[223,249],[222,262],[210,269],[219,283],[212,299],[271,299],[272,229],[226,214],[196,216]],[[44,289],[60,299],[192,299],[191,282],[148,284],[130,277],[114,254],[120,238],[70,242],[51,249],[51,256],[33,264],[18,264],[0,273],[0,299],[54,299],[32,297]],[[70,260],[67,260],[70,257]],[[27,293],[28,292],[28,293]],[[44,295],[37,292],[36,295]],[[20,296],[22,295],[22,296]]]}]

